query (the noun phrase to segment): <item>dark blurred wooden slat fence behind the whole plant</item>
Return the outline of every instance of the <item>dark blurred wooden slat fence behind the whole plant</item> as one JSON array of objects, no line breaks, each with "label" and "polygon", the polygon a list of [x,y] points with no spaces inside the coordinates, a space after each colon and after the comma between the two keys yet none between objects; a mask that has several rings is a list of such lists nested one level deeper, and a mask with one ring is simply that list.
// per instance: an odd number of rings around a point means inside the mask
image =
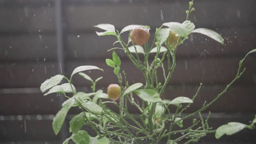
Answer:
[{"label": "dark blurred wooden slat fence behind the whole plant", "polygon": [[[98,37],[93,26],[112,23],[121,30],[131,24],[151,27],[151,35],[163,22],[185,20],[187,0],[0,0],[0,143],[62,143],[69,136],[68,123],[54,135],[51,123],[65,100],[60,95],[43,96],[40,83],[56,74],[70,75],[79,65],[96,65],[104,73],[88,71],[94,79],[103,76],[98,88],[117,83],[112,68],[105,64],[111,56],[113,36]],[[203,83],[194,106],[199,109],[230,82],[237,64],[256,48],[255,0],[196,0],[191,21],[222,34],[225,45],[208,37],[191,34],[177,51],[177,69],[165,99],[193,97]],[[125,38],[125,40],[127,37]],[[151,38],[152,39],[152,38]],[[151,40],[152,41],[152,40]],[[151,42],[150,41],[150,42]],[[150,43],[149,42],[149,43]],[[118,45],[117,45],[118,46]],[[115,47],[115,46],[114,46]],[[130,83],[143,82],[142,74],[117,51]],[[256,55],[245,61],[246,73],[217,103],[211,126],[216,129],[231,121],[249,124],[256,113]],[[160,80],[163,80],[160,78]],[[74,85],[90,92],[89,83],[78,75]],[[137,113],[131,107],[132,113]],[[68,118],[79,110],[71,110]],[[204,114],[203,116],[206,117]],[[186,122],[184,122],[186,125]],[[214,135],[199,143],[256,143],[255,130],[243,130],[216,140]]]}]

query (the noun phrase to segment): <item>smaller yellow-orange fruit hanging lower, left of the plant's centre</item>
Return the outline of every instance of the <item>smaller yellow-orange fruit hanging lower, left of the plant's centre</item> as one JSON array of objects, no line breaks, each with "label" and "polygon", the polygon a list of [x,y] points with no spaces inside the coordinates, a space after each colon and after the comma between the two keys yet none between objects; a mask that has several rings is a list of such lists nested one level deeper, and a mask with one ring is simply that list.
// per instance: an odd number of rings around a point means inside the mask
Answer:
[{"label": "smaller yellow-orange fruit hanging lower, left of the plant's centre", "polygon": [[110,84],[107,89],[107,94],[109,99],[115,101],[120,98],[121,95],[121,88],[117,84]]}]

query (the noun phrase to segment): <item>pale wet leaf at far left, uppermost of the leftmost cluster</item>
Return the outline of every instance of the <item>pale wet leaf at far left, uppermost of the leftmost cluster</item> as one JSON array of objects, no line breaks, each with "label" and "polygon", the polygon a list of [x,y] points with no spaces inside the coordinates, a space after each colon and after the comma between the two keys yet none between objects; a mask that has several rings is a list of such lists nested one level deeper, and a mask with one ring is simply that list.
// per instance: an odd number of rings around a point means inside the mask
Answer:
[{"label": "pale wet leaf at far left, uppermost of the leftmost cluster", "polygon": [[50,79],[44,81],[40,86],[41,92],[45,92],[47,89],[58,85],[62,81],[63,77],[63,75],[55,75]]}]

